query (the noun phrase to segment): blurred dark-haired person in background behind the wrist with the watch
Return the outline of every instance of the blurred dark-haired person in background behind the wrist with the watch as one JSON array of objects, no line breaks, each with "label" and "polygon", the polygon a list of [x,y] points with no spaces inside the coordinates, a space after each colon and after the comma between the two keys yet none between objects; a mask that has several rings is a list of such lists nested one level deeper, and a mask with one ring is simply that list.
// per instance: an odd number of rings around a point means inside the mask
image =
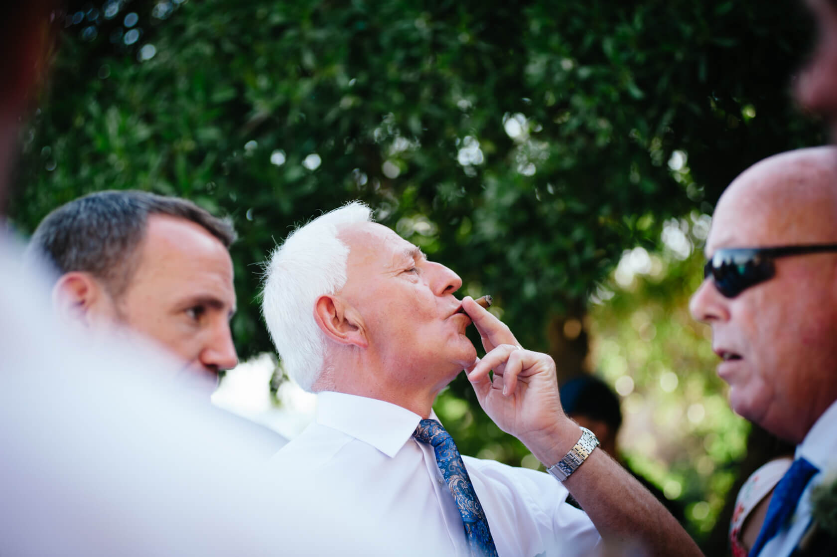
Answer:
[{"label": "blurred dark-haired person in background behind the wrist with the watch", "polygon": [[677,522],[686,522],[686,514],[680,503],[665,497],[660,487],[631,470],[619,451],[619,429],[622,427],[622,409],[619,396],[602,379],[590,374],[580,375],[561,385],[561,405],[567,415],[578,425],[588,428],[598,438],[599,446],[611,458],[630,472]]}]

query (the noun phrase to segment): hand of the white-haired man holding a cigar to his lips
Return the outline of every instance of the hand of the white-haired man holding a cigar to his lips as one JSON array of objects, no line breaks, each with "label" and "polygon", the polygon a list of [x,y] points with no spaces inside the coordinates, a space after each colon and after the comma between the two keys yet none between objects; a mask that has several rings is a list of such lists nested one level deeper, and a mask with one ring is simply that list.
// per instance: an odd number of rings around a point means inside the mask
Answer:
[{"label": "hand of the white-haired man holding a cigar to his lips", "polygon": [[[541,462],[554,464],[581,436],[578,425],[561,407],[555,362],[545,353],[521,348],[509,327],[472,298],[463,298],[462,307],[485,348],[485,358],[465,370],[480,406]],[[489,377],[492,369],[493,380]],[[556,458],[557,452],[561,454]]]}]

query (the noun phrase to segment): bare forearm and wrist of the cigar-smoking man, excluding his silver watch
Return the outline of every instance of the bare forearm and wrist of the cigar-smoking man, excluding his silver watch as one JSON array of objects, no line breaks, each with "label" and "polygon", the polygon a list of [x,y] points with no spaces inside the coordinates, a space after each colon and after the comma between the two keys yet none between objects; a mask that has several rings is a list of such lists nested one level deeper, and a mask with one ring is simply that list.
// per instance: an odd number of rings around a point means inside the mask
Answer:
[{"label": "bare forearm and wrist of the cigar-smoking man, excluding his silver watch", "polygon": [[[552,465],[561,460],[581,435],[575,424],[563,430],[552,443],[538,440],[530,446],[541,462]],[[601,449],[593,450],[563,483],[608,547],[639,547],[641,554],[649,555],[702,555],[665,507]]]}]

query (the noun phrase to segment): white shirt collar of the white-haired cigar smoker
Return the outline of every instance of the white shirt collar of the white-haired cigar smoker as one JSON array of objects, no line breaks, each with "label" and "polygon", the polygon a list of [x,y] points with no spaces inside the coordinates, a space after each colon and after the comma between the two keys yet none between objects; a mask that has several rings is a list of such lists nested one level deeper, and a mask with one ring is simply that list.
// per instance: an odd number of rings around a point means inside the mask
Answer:
[{"label": "white shirt collar of the white-haired cigar smoker", "polygon": [[[316,423],[374,446],[392,458],[412,436],[421,416],[398,405],[364,396],[317,394]],[[435,412],[430,419],[439,420]]]}]

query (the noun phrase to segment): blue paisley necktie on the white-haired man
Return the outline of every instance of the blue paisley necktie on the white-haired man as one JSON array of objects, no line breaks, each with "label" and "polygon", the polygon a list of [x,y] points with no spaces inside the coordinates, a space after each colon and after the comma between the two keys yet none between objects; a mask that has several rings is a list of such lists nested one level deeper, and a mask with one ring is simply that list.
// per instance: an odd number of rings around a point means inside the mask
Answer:
[{"label": "blue paisley necktie on the white-haired man", "polygon": [[413,437],[433,446],[436,464],[442,471],[444,481],[448,483],[456,507],[460,509],[470,554],[474,557],[496,557],[497,549],[494,539],[491,539],[488,521],[485,519],[480,499],[476,498],[474,486],[470,482],[468,471],[465,470],[465,462],[462,462],[453,437],[444,431],[444,427],[436,420],[421,420],[419,427],[413,431]]}]

